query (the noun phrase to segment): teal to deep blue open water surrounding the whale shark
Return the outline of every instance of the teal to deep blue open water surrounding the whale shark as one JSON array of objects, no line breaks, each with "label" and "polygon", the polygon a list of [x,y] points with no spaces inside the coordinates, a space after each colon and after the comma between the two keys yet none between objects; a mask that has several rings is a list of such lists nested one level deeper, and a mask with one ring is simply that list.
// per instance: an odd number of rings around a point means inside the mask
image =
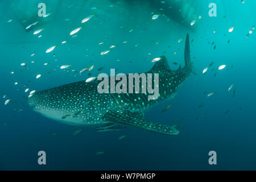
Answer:
[{"label": "teal to deep blue open water surrounding the whale shark", "polygon": [[[91,9],[93,5],[82,5],[82,0],[45,2],[47,13],[52,13],[47,17],[49,21],[42,22],[39,18],[34,29],[25,31],[28,24],[38,19],[35,13],[39,1],[0,1],[0,169],[256,169],[256,32],[246,38],[256,24],[254,0],[193,1],[196,13],[202,16],[193,26],[189,25],[191,21],[184,26],[172,17],[167,20],[161,13],[152,20],[154,11],[139,5],[115,9],[118,1],[105,5],[102,0],[96,10]],[[211,2],[217,5],[217,17],[208,15]],[[81,27],[81,20],[92,14],[96,16],[84,23],[85,27],[72,38],[69,32]],[[31,22],[22,23],[19,15],[30,18]],[[10,19],[13,20],[7,22]],[[234,30],[229,32],[233,26]],[[40,28],[45,30],[33,35]],[[150,121],[176,123],[179,135],[161,135],[134,127],[98,133],[94,127],[69,126],[43,117],[27,105],[31,90],[86,80],[90,77],[88,72],[79,74],[79,71],[92,64],[95,65],[90,71],[92,76],[101,72],[110,74],[110,68],[118,69],[119,73],[141,73],[151,69],[152,59],[165,55],[171,69],[177,69],[184,65],[187,33],[193,39],[191,57],[197,75],[191,75],[181,84],[176,98],[161,102],[145,114]],[[38,38],[39,35],[42,37]],[[183,40],[178,43],[179,39]],[[67,43],[61,44],[63,41]],[[104,44],[98,45],[101,42]],[[52,52],[46,53],[55,45]],[[112,45],[116,47],[102,56],[101,52]],[[31,57],[33,52],[35,55]],[[212,61],[214,64],[203,75],[203,69]],[[22,67],[21,63],[27,66]],[[72,67],[60,69],[65,64]],[[226,68],[219,71],[223,64]],[[97,71],[100,67],[106,68]],[[36,79],[38,74],[42,76]],[[15,82],[18,84],[14,85]],[[235,85],[228,91],[233,82]],[[26,88],[30,88],[27,93]],[[207,97],[210,92],[216,94]],[[7,99],[11,101],[5,105]],[[197,108],[202,103],[204,106]],[[79,129],[81,132],[73,135]],[[129,136],[118,139],[126,134]],[[47,165],[38,164],[38,151],[46,151]],[[97,155],[98,151],[106,152]],[[217,165],[209,165],[209,151],[216,151]]]}]

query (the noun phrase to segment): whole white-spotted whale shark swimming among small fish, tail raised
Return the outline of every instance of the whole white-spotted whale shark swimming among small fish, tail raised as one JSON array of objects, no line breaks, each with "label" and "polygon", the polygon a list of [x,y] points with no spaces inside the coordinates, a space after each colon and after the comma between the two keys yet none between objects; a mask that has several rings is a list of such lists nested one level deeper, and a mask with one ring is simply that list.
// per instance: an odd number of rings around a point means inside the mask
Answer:
[{"label": "whole white-spotted whale shark swimming among small fish, tail raised", "polygon": [[[162,56],[147,72],[159,74],[159,96],[156,100],[149,100],[148,93],[141,92],[100,94],[97,90],[100,81],[96,79],[36,92],[28,98],[28,104],[38,113],[69,125],[93,125],[98,131],[133,126],[160,134],[177,135],[179,131],[175,126],[148,121],[144,119],[143,113],[172,97],[181,82],[194,72],[190,60],[189,35],[185,42],[184,57],[184,68],[171,71],[166,57]],[[125,108],[122,107],[124,105]]]}]

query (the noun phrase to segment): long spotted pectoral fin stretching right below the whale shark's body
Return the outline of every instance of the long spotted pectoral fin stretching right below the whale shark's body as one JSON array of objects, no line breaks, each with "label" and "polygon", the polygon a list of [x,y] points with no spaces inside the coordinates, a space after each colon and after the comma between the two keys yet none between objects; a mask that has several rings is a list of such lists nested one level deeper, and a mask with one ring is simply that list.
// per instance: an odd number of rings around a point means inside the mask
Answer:
[{"label": "long spotted pectoral fin stretching right below the whale shark's body", "polygon": [[105,114],[104,121],[117,123],[119,125],[138,127],[160,134],[177,135],[179,131],[174,126],[147,121],[143,113],[131,112],[129,110],[112,110]]}]

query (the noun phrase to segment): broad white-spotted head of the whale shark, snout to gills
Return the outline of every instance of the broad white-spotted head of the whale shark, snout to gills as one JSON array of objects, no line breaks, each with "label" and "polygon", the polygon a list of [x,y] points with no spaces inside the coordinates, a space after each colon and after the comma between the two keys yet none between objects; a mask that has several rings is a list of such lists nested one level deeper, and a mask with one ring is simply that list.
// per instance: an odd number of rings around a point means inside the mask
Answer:
[{"label": "broad white-spotted head of the whale shark, snout to gills", "polygon": [[79,81],[57,86],[32,94],[27,102],[34,111],[57,121],[72,125],[91,121],[102,109],[108,109],[102,107],[104,102],[109,103],[108,98],[98,94],[96,84]]}]

